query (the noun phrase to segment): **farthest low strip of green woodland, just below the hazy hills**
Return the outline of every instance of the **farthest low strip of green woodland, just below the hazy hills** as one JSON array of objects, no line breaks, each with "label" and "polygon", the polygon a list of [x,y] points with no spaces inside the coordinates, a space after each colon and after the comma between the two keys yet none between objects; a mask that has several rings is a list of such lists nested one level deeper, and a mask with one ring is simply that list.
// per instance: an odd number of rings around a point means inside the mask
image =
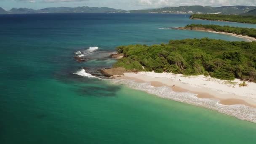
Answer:
[{"label": "farthest low strip of green woodland, just below the hazy hills", "polygon": [[220,15],[220,14],[192,14],[190,19],[205,19],[213,21],[234,21],[256,24],[256,16]]}]

